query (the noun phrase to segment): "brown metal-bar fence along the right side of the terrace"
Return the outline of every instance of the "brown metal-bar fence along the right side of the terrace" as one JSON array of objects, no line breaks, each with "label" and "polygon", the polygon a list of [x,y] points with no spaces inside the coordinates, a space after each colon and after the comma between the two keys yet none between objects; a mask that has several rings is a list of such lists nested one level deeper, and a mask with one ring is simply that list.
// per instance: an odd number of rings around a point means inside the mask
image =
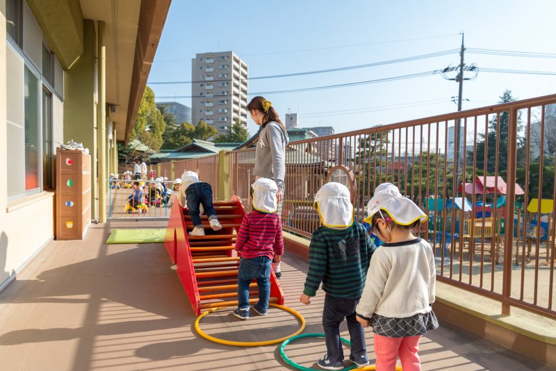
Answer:
[{"label": "brown metal-bar fence along the right side of the terrace", "polygon": [[[416,233],[434,248],[439,281],[497,299],[502,314],[556,318],[555,154],[556,95],[297,141],[286,149],[282,222],[311,236],[313,197],[338,165],[353,173],[358,221],[389,181],[429,215]],[[250,210],[254,149],[229,160],[231,194]]]}]

